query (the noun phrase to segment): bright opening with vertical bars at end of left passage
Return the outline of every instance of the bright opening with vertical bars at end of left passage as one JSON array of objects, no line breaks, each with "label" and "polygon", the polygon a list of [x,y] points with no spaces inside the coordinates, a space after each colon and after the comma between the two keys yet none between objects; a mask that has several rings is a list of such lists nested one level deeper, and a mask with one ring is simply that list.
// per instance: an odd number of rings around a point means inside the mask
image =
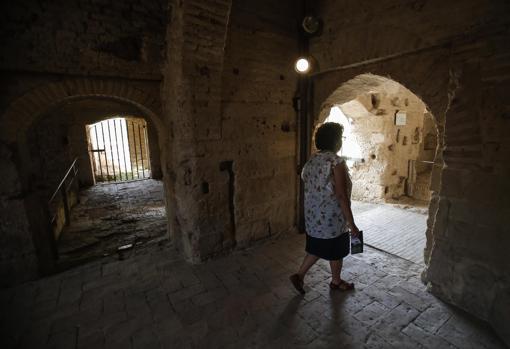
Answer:
[{"label": "bright opening with vertical bars at end of left passage", "polygon": [[115,117],[87,125],[86,132],[96,183],[151,177],[144,119]]}]

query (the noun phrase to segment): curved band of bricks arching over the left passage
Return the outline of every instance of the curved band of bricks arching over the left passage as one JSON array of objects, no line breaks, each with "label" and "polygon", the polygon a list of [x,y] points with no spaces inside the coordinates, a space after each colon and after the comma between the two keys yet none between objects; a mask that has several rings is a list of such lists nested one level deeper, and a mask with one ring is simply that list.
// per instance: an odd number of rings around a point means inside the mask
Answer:
[{"label": "curved band of bricks arching over the left passage", "polygon": [[[157,93],[157,90],[155,90]],[[136,83],[107,79],[66,79],[30,90],[10,103],[0,116],[0,140],[15,142],[38,118],[62,103],[83,98],[107,98],[137,107],[164,136],[159,94],[149,94]]]}]

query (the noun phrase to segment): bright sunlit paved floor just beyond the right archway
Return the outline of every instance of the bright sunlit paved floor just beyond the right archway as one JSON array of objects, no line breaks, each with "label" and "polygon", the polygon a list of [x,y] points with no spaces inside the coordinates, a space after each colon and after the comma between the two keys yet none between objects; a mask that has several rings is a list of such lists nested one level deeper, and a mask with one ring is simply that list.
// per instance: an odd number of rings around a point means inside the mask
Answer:
[{"label": "bright sunlit paved floor just beyond the right archway", "polygon": [[424,264],[426,208],[353,201],[352,210],[367,245]]}]

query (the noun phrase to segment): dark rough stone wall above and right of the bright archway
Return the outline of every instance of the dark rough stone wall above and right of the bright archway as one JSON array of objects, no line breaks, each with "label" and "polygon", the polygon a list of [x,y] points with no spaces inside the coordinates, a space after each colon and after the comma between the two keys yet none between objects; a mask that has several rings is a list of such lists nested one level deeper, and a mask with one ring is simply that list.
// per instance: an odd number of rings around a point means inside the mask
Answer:
[{"label": "dark rough stone wall above and right of the bright archway", "polygon": [[325,27],[312,54],[331,70],[314,79],[315,115],[338,86],[367,72],[390,76],[426,103],[439,152],[425,279],[434,294],[489,320],[510,343],[508,3],[317,5]]}]

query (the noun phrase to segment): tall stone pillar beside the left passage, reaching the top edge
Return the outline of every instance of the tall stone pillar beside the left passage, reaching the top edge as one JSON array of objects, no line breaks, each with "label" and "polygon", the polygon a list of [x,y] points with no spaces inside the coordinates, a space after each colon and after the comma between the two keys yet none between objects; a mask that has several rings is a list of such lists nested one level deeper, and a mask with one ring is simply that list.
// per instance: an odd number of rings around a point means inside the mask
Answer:
[{"label": "tall stone pillar beside the left passage, reaching the top edge", "polygon": [[215,154],[230,8],[229,0],[175,1],[167,32],[162,99],[170,133],[167,173],[173,182],[167,212],[172,238],[193,262],[220,251],[230,229],[229,219],[218,216],[228,212],[228,192],[220,189],[225,181]]}]

